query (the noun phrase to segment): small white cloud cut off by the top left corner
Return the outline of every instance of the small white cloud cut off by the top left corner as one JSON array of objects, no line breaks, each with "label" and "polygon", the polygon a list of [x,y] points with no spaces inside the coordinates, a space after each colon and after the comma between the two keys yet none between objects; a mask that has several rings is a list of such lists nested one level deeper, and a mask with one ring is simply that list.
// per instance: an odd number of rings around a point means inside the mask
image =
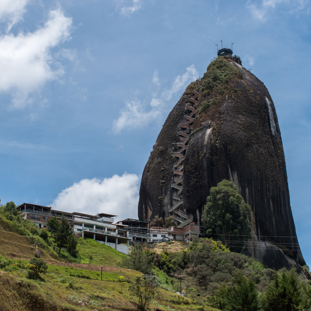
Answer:
[{"label": "small white cloud cut off by the top left corner", "polygon": [[8,21],[8,30],[23,17],[29,0],[1,0],[0,20]]}]

